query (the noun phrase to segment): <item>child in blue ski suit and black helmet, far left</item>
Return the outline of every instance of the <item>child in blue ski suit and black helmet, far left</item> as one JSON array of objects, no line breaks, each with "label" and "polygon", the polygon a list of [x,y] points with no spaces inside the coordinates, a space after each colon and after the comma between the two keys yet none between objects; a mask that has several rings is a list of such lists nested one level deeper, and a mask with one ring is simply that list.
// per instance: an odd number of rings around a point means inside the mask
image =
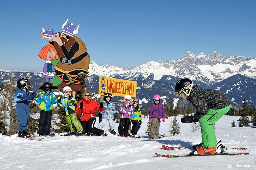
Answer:
[{"label": "child in blue ski suit and black helmet, far left", "polygon": [[28,138],[29,134],[25,131],[29,121],[29,100],[36,97],[36,92],[29,93],[30,82],[27,78],[20,78],[17,81],[17,88],[14,92],[13,101],[17,102],[16,115],[19,122],[19,137]]}]

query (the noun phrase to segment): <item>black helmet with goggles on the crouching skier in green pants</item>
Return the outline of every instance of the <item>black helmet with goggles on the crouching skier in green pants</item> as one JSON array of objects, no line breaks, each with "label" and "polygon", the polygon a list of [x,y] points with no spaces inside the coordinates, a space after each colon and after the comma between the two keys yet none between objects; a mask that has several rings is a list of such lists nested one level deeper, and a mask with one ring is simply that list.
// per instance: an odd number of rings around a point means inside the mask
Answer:
[{"label": "black helmet with goggles on the crouching skier in green pants", "polygon": [[176,83],[174,90],[176,93],[179,93],[179,94],[183,92],[187,97],[189,97],[189,94],[193,86],[194,86],[194,83],[191,79],[183,78]]}]

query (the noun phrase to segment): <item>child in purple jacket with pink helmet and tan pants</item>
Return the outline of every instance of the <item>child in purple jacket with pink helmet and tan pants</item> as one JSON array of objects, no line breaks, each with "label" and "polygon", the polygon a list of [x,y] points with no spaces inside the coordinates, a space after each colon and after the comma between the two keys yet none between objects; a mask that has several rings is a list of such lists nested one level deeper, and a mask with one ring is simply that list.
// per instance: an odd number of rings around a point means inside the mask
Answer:
[{"label": "child in purple jacket with pink helmet and tan pants", "polygon": [[149,122],[151,123],[150,126],[150,139],[157,139],[158,137],[162,137],[159,134],[159,127],[161,118],[163,118],[163,122],[165,122],[165,111],[164,105],[160,103],[160,96],[158,94],[154,95],[153,97],[154,104],[151,105],[149,110]]}]

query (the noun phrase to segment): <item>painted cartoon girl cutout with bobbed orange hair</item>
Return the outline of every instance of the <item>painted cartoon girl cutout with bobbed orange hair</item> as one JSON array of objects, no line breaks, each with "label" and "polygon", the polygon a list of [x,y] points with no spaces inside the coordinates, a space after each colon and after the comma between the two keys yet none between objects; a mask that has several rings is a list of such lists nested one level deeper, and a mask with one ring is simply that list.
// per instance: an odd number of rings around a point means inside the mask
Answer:
[{"label": "painted cartoon girl cutout with bobbed orange hair", "polygon": [[43,70],[44,73],[42,74],[42,77],[45,78],[45,82],[52,83],[52,78],[54,78],[55,69],[51,60],[58,59],[56,49],[53,47],[52,44],[47,44],[41,49],[38,56],[44,60],[46,59]]}]

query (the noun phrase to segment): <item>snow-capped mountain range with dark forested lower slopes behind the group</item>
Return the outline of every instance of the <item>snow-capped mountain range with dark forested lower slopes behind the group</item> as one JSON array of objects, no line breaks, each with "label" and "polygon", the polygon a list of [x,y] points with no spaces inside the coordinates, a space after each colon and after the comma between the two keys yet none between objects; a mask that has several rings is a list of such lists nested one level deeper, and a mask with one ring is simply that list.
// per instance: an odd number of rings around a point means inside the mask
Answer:
[{"label": "snow-capped mountain range with dark forested lower slopes behind the group", "polygon": [[[0,70],[0,80],[4,82],[9,71]],[[26,76],[26,72],[15,72],[16,77]],[[38,88],[43,79],[42,73],[29,73],[32,85]],[[162,96],[162,101],[177,103],[180,106],[189,102],[180,100],[174,92],[174,86],[180,78],[191,78],[202,88],[215,89],[223,92],[232,101],[234,107],[242,105],[242,100],[248,100],[248,106],[256,104],[256,58],[228,55],[222,56],[217,51],[205,55],[201,52],[195,55],[189,51],[176,61],[148,62],[138,67],[119,68],[110,64],[98,65],[91,61],[87,82],[93,93],[98,93],[99,76],[137,81],[137,97],[142,106],[152,103],[154,94]],[[121,103],[122,98],[117,97]]]}]

